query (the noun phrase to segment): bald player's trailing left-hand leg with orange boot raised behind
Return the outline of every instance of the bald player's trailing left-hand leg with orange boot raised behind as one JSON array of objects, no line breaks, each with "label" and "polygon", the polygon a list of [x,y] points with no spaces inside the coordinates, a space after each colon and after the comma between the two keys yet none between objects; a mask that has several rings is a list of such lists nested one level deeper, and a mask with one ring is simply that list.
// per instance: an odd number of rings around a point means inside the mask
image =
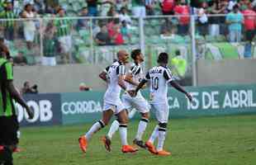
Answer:
[{"label": "bald player's trailing left-hand leg with orange boot raised behind", "polygon": [[104,126],[107,125],[109,123],[109,121],[111,120],[111,116],[114,113],[114,110],[112,110],[112,109],[114,109],[114,108],[115,108],[114,106],[104,104],[102,120],[98,120],[96,123],[94,123],[94,125],[92,125],[90,130],[88,130],[88,132],[86,134],[84,134],[83,136],[81,136],[78,139],[79,146],[84,153],[87,150],[88,141],[92,138],[92,135],[95,134],[98,130],[101,130],[102,128],[104,128]]}]

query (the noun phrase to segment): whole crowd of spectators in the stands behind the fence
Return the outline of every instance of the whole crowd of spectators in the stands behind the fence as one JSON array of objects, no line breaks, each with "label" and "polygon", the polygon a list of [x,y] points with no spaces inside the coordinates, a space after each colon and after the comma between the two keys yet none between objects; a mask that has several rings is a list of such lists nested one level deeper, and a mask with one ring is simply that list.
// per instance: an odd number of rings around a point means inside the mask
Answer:
[{"label": "whole crowd of spectators in the stands behind the fence", "polygon": [[[130,40],[130,29],[134,28],[131,16],[178,16],[175,19],[165,19],[164,24],[159,26],[159,34],[189,35],[189,15],[192,13],[197,15],[199,35],[224,35],[230,42],[241,40],[252,42],[256,27],[256,0],[197,0],[197,2],[197,7],[192,8],[189,0],[84,0],[84,6],[76,12],[77,16],[112,17],[93,21],[93,37],[96,45],[123,45],[125,40]],[[0,0],[0,18],[42,16],[64,17],[69,16],[69,12],[57,0]],[[26,40],[28,50],[33,48],[36,33],[40,31],[40,22],[36,20],[23,21],[22,31],[17,28],[19,27],[17,21],[2,21],[0,25],[5,40],[21,37]],[[47,48],[43,50],[45,54],[43,64],[55,65],[55,52],[62,54],[63,63],[69,63],[70,50],[72,50],[71,31],[89,28],[90,24],[86,19],[79,19],[75,25],[66,19],[51,21],[49,25],[45,25],[43,45]],[[242,31],[245,32],[244,37]],[[250,46],[246,45],[245,50],[249,50]]]}]

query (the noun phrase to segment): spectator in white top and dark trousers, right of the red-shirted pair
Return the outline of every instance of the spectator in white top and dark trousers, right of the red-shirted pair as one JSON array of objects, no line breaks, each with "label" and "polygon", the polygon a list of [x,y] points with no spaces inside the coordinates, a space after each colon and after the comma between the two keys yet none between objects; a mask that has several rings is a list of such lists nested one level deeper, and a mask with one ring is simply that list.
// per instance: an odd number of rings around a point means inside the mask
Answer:
[{"label": "spectator in white top and dark trousers, right of the red-shirted pair", "polygon": [[208,17],[207,17],[207,3],[202,2],[201,7],[197,11],[198,15],[198,31],[200,35],[206,36],[208,34]]}]

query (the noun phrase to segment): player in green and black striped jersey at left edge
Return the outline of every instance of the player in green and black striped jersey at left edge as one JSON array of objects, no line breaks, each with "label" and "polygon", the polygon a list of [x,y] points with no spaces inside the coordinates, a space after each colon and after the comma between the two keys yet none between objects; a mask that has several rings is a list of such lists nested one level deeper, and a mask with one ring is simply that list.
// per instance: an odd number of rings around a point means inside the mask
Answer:
[{"label": "player in green and black striped jersey at left edge", "polygon": [[8,61],[9,52],[5,45],[0,46],[0,164],[12,165],[12,152],[18,144],[19,124],[13,101],[26,108],[29,118],[33,112],[13,85],[12,64]]}]

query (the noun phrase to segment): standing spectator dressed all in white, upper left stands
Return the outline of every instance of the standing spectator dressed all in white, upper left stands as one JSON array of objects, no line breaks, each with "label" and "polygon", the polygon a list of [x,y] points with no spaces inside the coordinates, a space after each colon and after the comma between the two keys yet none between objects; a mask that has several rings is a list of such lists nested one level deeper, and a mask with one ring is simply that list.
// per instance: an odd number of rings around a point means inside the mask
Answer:
[{"label": "standing spectator dressed all in white, upper left stands", "polygon": [[[36,13],[32,11],[33,6],[28,3],[24,8],[24,12],[22,12],[22,17],[27,19],[33,19],[36,17]],[[32,43],[35,39],[36,33],[36,24],[34,20],[24,21],[24,35],[26,40],[26,45],[29,50],[32,49]]]}]

